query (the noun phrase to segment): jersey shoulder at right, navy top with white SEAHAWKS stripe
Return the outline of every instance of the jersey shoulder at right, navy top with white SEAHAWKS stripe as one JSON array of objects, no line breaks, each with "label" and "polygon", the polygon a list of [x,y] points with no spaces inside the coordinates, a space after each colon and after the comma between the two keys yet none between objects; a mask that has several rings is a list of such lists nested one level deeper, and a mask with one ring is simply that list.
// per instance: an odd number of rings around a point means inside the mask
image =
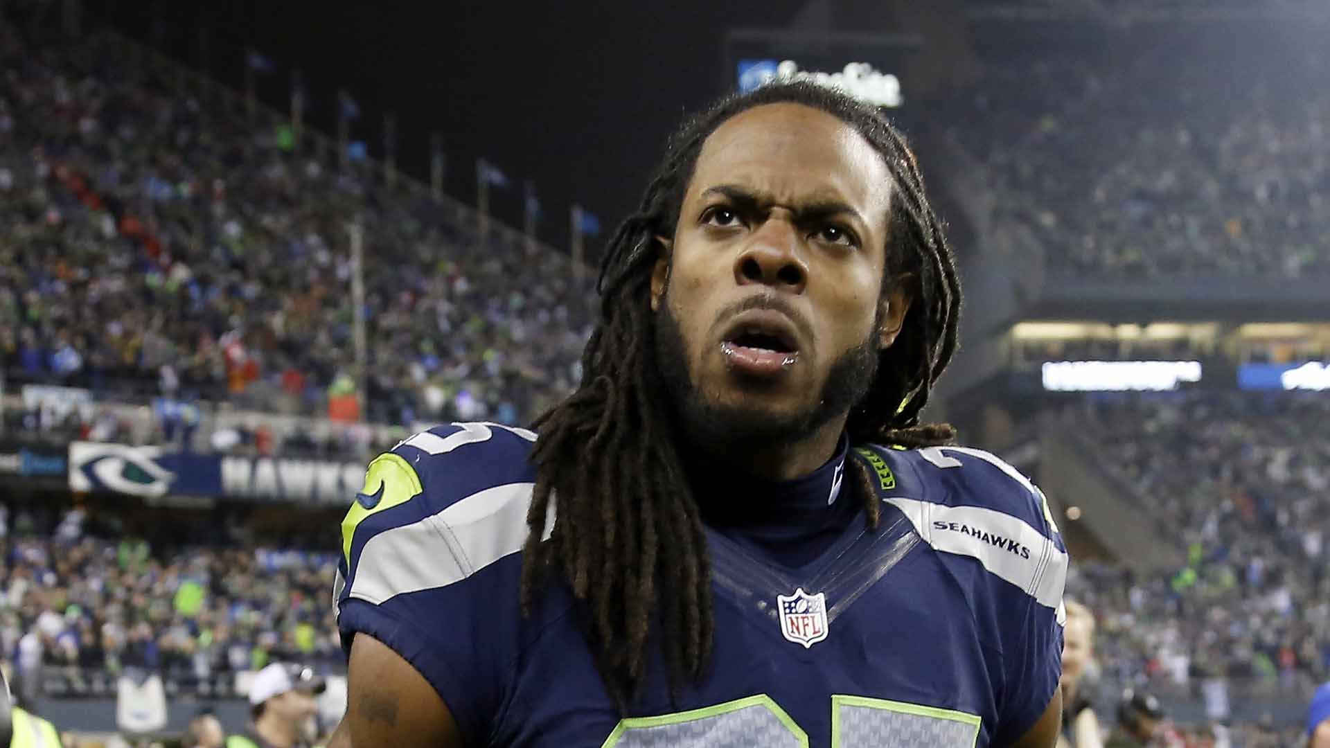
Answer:
[{"label": "jersey shoulder at right, navy top with white SEAHAWKS stripe", "polygon": [[878,471],[883,502],[900,510],[934,550],[979,562],[991,578],[1063,616],[1067,548],[1029,478],[972,447],[867,445],[858,453]]}]

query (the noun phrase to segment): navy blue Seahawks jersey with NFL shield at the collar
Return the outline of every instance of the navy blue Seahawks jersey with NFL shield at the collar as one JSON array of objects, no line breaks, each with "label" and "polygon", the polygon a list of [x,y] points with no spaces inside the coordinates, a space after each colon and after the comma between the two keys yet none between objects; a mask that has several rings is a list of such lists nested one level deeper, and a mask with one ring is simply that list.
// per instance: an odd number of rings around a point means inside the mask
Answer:
[{"label": "navy blue Seahawks jersey with NFL shield at the collar", "polygon": [[[708,522],[709,669],[672,703],[656,654],[621,717],[567,588],[520,611],[535,438],[416,434],[370,463],[342,524],[343,646],[364,632],[402,655],[468,745],[1007,745],[1057,688],[1067,552],[1039,490],[979,450],[861,446],[843,459],[868,468],[879,528],[853,507],[806,540]],[[849,466],[827,471],[823,508],[862,507]]]}]

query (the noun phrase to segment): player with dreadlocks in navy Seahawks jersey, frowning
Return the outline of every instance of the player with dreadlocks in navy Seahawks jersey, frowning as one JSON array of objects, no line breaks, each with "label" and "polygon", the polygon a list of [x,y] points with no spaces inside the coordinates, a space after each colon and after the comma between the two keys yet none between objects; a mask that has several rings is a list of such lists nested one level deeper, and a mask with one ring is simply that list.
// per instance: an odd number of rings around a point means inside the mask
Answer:
[{"label": "player with dreadlocks in navy Seahawks jersey, frowning", "polygon": [[334,745],[1053,745],[1067,554],[919,411],[960,289],[900,134],[809,83],[672,140],[577,391],[375,459]]}]

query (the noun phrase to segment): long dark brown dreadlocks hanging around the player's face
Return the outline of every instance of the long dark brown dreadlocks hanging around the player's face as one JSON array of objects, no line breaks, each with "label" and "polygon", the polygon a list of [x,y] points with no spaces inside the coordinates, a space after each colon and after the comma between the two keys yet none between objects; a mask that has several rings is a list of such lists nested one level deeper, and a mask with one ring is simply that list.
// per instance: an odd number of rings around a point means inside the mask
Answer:
[{"label": "long dark brown dreadlocks hanging around the player's face", "polygon": [[[670,140],[641,205],[618,228],[600,266],[600,318],[583,353],[583,379],[541,415],[532,461],[535,495],[527,523],[523,610],[543,572],[557,571],[579,600],[583,626],[609,695],[625,709],[645,672],[648,639],[660,639],[672,688],[698,679],[712,648],[710,560],[697,502],[680,453],[674,417],[654,361],[650,276],[673,236],[706,137],[763,104],[794,102],[855,128],[894,180],[887,278],[914,297],[895,343],[879,355],[868,395],[851,409],[854,443],[903,447],[951,443],[947,425],[919,425],[934,382],[956,349],[960,285],[951,248],[924,194],[902,134],[871,105],[810,83],[766,85],[722,98]],[[867,474],[861,468],[861,482]],[[864,490],[867,523],[878,502]],[[553,534],[541,542],[547,516]],[[661,592],[661,594],[658,594]]]}]

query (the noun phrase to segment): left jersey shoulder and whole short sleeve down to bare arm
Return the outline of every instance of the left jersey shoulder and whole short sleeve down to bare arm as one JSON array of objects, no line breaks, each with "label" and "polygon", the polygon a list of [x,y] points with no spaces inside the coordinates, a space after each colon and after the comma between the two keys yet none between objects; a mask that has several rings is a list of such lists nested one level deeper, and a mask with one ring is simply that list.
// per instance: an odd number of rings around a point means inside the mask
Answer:
[{"label": "left jersey shoulder and whole short sleeve down to bare arm", "polygon": [[360,634],[380,642],[434,687],[467,735],[483,735],[503,708],[523,646],[535,441],[496,423],[422,431],[370,463],[342,520],[342,648],[350,654]]}]

